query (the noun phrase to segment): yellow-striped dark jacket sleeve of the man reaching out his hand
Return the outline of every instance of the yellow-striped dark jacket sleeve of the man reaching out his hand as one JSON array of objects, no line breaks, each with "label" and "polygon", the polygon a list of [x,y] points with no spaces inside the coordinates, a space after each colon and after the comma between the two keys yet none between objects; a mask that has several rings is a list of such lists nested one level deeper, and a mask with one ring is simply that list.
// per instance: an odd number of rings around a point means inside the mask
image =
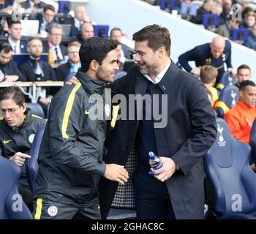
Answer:
[{"label": "yellow-striped dark jacket sleeve of the man reaching out his hand", "polygon": [[65,102],[57,98],[50,105],[50,153],[56,162],[102,176],[105,174],[105,162],[94,159],[79,147],[78,132],[83,124],[83,110],[81,97],[76,93],[78,86],[79,83],[72,88]]}]

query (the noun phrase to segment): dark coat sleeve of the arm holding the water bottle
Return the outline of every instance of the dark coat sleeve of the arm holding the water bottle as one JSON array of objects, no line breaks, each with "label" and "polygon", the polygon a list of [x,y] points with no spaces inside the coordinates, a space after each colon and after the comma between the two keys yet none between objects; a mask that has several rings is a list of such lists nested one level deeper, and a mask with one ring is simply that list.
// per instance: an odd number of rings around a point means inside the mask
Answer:
[{"label": "dark coat sleeve of the arm holding the water bottle", "polygon": [[192,137],[171,157],[185,175],[211,148],[217,136],[216,118],[202,83],[188,86],[186,102]]}]

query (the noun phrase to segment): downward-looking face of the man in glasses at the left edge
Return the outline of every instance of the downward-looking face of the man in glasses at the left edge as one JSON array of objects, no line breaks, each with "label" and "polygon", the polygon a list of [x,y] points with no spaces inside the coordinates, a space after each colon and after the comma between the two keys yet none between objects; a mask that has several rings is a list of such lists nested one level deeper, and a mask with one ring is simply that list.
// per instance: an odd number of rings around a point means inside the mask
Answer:
[{"label": "downward-looking face of the man in glasses at the left edge", "polygon": [[0,102],[0,110],[8,126],[20,127],[23,124],[26,103],[19,106],[12,99],[5,99]]}]

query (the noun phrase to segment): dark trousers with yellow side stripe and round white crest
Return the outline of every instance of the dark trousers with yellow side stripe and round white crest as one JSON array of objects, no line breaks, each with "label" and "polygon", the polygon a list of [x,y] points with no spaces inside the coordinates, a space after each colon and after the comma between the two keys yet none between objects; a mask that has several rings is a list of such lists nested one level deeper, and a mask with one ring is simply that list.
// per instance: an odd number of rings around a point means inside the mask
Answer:
[{"label": "dark trousers with yellow side stripe and round white crest", "polygon": [[34,219],[101,219],[98,198],[83,208],[47,198],[36,198],[33,207]]}]

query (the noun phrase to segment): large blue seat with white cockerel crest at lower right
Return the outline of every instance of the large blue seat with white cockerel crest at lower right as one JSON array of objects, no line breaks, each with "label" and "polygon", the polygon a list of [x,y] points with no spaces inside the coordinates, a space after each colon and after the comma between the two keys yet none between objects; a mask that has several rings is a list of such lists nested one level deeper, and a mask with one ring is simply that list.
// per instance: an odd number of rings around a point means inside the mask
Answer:
[{"label": "large blue seat with white cockerel crest at lower right", "polygon": [[206,153],[204,170],[215,192],[221,219],[256,219],[256,174],[249,166],[250,147],[236,140],[217,118],[217,139]]}]

